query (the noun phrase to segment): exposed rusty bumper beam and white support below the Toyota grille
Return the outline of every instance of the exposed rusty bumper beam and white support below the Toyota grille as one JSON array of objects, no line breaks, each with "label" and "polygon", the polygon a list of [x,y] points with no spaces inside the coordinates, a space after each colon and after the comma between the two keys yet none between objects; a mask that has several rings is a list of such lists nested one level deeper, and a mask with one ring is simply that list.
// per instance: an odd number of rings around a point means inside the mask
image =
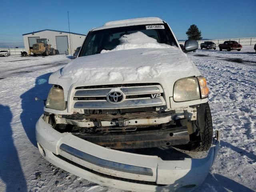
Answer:
[{"label": "exposed rusty bumper beam and white support below the Toyota grille", "polygon": [[45,113],[44,119],[59,132],[114,149],[174,146],[190,140],[188,128],[175,121],[175,111],[156,111],[156,107],[86,111],[73,115]]}]

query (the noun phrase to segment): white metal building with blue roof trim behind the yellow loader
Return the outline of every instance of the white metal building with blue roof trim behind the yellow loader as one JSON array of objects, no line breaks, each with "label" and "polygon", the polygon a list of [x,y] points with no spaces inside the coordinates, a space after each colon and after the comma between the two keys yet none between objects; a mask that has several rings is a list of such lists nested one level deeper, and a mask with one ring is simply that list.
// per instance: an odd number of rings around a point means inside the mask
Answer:
[{"label": "white metal building with blue roof trim behind the yellow loader", "polygon": [[50,29],[23,34],[25,51],[28,54],[32,54],[30,53],[30,49],[33,48],[33,44],[36,43],[36,39],[38,38],[48,39],[48,44],[50,44],[52,48],[58,49],[60,54],[65,54],[65,51],[68,51],[69,54],[73,54],[74,50],[82,45],[85,37],[86,35],[84,34]]}]

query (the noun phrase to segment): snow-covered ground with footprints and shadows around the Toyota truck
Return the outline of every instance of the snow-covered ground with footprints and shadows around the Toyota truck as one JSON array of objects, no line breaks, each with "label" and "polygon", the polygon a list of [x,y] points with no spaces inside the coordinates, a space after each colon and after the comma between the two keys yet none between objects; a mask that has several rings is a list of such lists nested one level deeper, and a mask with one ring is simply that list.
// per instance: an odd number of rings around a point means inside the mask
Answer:
[{"label": "snow-covered ground with footprints and shadows around the Toyota truck", "polygon": [[[197,50],[188,53],[210,87],[214,129],[221,147],[197,191],[256,191],[256,54]],[[0,191],[121,190],[88,182],[44,160],[36,147],[35,124],[50,90],[48,77],[71,60],[63,55],[0,58]]]}]

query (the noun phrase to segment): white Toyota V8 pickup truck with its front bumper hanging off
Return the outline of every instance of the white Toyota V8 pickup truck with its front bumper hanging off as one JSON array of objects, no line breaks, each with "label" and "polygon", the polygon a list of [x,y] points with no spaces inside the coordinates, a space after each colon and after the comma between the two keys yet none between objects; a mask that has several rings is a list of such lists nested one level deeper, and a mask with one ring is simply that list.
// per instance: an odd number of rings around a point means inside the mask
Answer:
[{"label": "white Toyota V8 pickup truck with its front bumper hanging off", "polygon": [[[197,48],[196,41],[185,42],[185,52]],[[212,145],[206,79],[160,18],[90,30],[78,58],[49,83],[36,137],[41,154],[56,166],[133,191],[194,189],[208,174],[214,153],[202,164],[143,154],[170,146],[208,151]],[[200,164],[199,178],[191,175],[194,163]]]}]

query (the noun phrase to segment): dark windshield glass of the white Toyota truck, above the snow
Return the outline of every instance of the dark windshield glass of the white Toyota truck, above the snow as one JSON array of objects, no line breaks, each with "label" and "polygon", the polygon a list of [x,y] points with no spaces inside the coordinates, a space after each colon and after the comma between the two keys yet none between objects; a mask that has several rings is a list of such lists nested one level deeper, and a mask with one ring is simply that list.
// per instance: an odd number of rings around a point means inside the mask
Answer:
[{"label": "dark windshield glass of the white Toyota truck, above the snow", "polygon": [[113,50],[120,44],[122,38],[137,32],[142,32],[148,37],[154,38],[157,43],[178,46],[167,25],[157,24],[149,26],[164,27],[146,29],[148,25],[136,25],[92,31],[86,37],[79,56],[99,54],[102,50]]}]

